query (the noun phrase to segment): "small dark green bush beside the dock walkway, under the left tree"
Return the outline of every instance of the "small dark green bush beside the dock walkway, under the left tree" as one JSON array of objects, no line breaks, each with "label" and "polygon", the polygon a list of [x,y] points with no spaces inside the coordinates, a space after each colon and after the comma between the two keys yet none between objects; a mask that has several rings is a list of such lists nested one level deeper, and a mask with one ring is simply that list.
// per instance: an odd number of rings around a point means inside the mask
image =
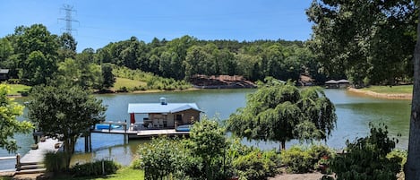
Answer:
[{"label": "small dark green bush beside the dock walkway, under the left tree", "polygon": [[66,159],[68,154],[63,151],[47,152],[44,157],[44,165],[47,172],[64,172],[69,165]]}]

